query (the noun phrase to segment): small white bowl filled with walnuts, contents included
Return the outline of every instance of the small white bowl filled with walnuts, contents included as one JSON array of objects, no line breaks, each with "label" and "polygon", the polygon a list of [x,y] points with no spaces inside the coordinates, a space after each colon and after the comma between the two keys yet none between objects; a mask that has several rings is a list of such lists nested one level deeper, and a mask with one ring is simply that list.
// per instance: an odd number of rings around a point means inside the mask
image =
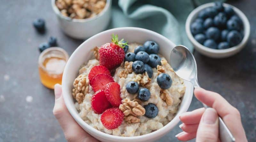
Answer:
[{"label": "small white bowl filled with walnuts, contents included", "polygon": [[60,28],[76,39],[104,31],[111,18],[112,0],[52,0]]}]

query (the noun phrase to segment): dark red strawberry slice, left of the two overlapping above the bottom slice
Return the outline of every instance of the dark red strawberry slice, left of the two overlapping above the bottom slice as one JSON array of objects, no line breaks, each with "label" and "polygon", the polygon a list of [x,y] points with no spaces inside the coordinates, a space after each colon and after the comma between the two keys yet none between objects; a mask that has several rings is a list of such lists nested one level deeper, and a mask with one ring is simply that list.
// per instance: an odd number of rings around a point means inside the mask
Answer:
[{"label": "dark red strawberry slice, left of the two overlapping above the bottom slice", "polygon": [[94,93],[92,96],[91,106],[92,110],[97,114],[101,114],[106,109],[111,108],[111,104],[108,102],[104,90],[98,90]]}]

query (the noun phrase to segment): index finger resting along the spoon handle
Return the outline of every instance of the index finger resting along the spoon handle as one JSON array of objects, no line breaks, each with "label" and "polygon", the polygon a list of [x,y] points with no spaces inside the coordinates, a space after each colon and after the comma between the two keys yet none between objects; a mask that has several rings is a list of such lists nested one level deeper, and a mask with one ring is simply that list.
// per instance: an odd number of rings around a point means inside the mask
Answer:
[{"label": "index finger resting along the spoon handle", "polygon": [[[204,90],[202,88],[196,88],[195,91],[196,98],[214,108],[222,120],[227,125],[228,129],[231,131],[236,141],[246,140],[243,125],[241,123],[241,116],[239,111],[228,103],[220,94],[211,91]],[[234,125],[236,124],[236,125]]]}]

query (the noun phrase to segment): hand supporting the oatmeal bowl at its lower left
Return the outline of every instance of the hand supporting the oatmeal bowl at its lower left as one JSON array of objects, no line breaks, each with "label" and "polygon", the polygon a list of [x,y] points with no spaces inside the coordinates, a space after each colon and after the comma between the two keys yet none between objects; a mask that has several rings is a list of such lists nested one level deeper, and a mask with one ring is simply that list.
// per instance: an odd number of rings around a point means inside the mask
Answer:
[{"label": "hand supporting the oatmeal bowl at its lower left", "polygon": [[62,97],[62,90],[59,84],[54,86],[55,93],[55,104],[53,108],[53,114],[60,123],[62,130],[64,131],[65,137],[68,142],[73,141],[97,141],[92,138],[88,133],[86,133],[83,128],[81,128],[78,123],[70,115]]}]

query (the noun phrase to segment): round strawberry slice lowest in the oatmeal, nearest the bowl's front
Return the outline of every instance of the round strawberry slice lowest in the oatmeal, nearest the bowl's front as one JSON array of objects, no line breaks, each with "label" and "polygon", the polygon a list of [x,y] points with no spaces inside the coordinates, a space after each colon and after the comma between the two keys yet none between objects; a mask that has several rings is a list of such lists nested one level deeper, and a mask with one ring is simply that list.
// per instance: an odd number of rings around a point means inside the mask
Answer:
[{"label": "round strawberry slice lowest in the oatmeal, nearest the bowl's front", "polygon": [[124,113],[119,108],[109,108],[103,112],[100,120],[105,128],[116,129],[122,124]]}]

